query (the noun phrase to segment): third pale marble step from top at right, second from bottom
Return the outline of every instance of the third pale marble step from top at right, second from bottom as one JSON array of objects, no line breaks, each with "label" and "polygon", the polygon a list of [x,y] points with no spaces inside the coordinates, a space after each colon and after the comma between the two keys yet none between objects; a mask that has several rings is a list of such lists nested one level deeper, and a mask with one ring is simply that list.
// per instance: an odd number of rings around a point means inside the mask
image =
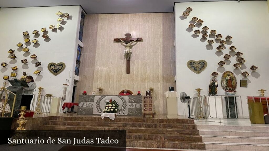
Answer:
[{"label": "third pale marble step from top at right, second from bottom", "polygon": [[213,136],[201,135],[203,142],[226,142],[226,143],[254,143],[269,144],[269,137],[243,137],[243,136]]}]

